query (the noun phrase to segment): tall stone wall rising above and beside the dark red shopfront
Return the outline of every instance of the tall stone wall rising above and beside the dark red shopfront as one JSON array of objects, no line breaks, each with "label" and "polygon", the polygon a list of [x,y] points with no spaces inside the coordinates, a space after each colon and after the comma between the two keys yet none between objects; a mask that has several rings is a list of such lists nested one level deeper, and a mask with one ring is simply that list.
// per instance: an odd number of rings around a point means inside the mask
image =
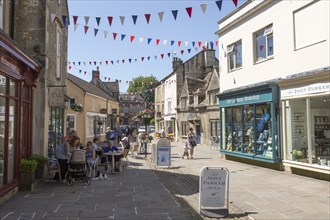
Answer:
[{"label": "tall stone wall rising above and beside the dark red shopfront", "polygon": [[[57,15],[54,21],[51,19],[51,14]],[[64,118],[68,26],[64,26],[62,19],[60,20],[62,15],[69,15],[66,0],[15,1],[14,38],[19,46],[43,65],[34,90],[33,110],[35,114],[32,121],[34,122],[33,152],[45,156],[48,151],[50,111],[61,108],[61,117]],[[58,41],[59,48],[57,47]],[[60,57],[60,65],[57,65],[57,56]],[[59,70],[57,70],[58,68]],[[50,87],[63,88],[62,106],[51,107],[49,105]],[[64,134],[62,132],[57,135],[63,136]]]}]

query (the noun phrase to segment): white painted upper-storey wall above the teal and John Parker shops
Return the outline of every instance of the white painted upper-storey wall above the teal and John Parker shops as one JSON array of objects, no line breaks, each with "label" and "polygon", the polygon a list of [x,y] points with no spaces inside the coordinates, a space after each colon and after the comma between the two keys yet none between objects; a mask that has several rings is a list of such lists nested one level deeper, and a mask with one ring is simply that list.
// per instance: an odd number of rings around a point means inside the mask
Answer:
[{"label": "white painted upper-storey wall above the teal and John Parker shops", "polygon": [[[262,4],[261,10],[253,11]],[[328,67],[329,8],[330,1],[252,1],[225,17],[219,22],[220,92]],[[273,24],[273,59],[256,64],[253,34],[270,24]],[[228,45],[240,39],[242,68],[228,72],[228,56],[224,53]]]}]

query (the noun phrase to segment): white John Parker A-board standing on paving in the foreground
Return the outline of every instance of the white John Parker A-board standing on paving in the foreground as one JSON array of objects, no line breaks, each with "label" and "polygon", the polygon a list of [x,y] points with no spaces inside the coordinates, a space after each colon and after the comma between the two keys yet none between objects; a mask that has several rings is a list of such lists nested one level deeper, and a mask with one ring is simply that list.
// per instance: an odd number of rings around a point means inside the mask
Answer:
[{"label": "white John Parker A-board standing on paving in the foreground", "polygon": [[199,184],[201,214],[224,217],[228,214],[229,171],[224,167],[203,167]]}]

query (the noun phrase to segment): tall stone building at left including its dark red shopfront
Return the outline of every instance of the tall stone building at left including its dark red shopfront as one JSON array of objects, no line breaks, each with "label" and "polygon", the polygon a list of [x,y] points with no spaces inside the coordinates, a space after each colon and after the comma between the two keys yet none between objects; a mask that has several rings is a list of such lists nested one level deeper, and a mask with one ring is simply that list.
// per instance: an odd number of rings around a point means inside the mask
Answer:
[{"label": "tall stone building at left including its dark red shopfront", "polygon": [[[0,12],[0,27],[4,32],[1,36],[9,35],[1,38],[5,42],[1,43],[1,53],[6,50],[4,53],[12,54],[11,61],[4,55],[1,63],[7,66],[12,63],[10,68],[18,73],[6,73],[1,67],[2,81],[6,81],[6,86],[17,88],[8,90],[15,93],[6,95],[7,98],[17,96],[15,106],[4,106],[7,113],[15,115],[6,119],[13,123],[4,123],[5,131],[13,131],[13,136],[10,141],[5,137],[0,146],[11,145],[13,150],[1,166],[4,175],[0,178],[0,196],[4,198],[17,190],[20,159],[32,153],[47,156],[49,144],[59,144],[64,136],[69,20],[62,20],[62,15],[68,16],[66,0],[1,1]],[[49,132],[54,134],[50,142]]]}]

